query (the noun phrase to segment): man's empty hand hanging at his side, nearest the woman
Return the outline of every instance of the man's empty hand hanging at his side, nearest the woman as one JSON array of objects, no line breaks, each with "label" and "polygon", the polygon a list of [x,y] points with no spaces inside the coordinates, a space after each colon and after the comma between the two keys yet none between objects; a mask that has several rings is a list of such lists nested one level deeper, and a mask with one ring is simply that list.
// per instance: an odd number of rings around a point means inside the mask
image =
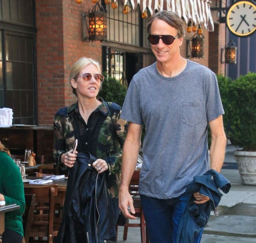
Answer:
[{"label": "man's empty hand hanging at his side, nearest the woman", "polygon": [[131,213],[135,214],[132,196],[130,195],[128,189],[122,189],[121,187],[119,190],[119,209],[123,212],[123,215],[126,218],[136,219],[135,216],[132,216],[129,213],[128,207],[130,207]]}]

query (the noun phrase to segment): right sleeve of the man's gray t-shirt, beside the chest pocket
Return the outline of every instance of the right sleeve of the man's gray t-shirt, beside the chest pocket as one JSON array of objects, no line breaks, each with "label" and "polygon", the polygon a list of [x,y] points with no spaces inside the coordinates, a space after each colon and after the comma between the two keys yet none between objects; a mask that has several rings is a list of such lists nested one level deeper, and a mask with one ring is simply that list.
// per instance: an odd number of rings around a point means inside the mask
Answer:
[{"label": "right sleeve of the man's gray t-shirt, beside the chest pocket", "polygon": [[207,121],[212,121],[224,114],[224,109],[219,94],[218,80],[214,73],[210,73],[206,82],[206,116]]}]

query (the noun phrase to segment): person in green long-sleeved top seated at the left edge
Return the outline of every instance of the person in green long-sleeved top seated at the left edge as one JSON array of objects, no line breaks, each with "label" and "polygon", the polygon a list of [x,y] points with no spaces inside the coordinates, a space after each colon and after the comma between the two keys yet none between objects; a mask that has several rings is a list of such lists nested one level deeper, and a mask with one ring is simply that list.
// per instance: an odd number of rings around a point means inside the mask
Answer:
[{"label": "person in green long-sleeved top seated at the left edge", "polygon": [[0,201],[20,206],[5,213],[3,243],[21,243],[23,238],[22,214],[25,210],[24,186],[20,170],[10,157],[10,152],[0,142]]}]

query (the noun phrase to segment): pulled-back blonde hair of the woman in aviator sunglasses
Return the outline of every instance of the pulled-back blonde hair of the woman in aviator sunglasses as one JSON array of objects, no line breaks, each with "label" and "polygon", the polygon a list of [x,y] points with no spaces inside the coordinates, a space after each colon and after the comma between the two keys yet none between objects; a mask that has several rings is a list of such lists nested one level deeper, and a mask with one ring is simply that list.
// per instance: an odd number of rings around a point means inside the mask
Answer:
[{"label": "pulled-back blonde hair of the woman in aviator sunglasses", "polygon": [[[77,81],[77,75],[80,73],[80,71],[84,67],[86,67],[87,65],[90,65],[90,64],[95,65],[95,67],[97,67],[99,73],[101,73],[101,66],[100,66],[99,62],[97,62],[93,58],[82,57],[79,60],[77,60],[77,62],[75,62],[70,69],[69,78],[68,78],[70,85],[71,85],[71,80],[74,79],[75,81]],[[72,85],[71,85],[71,88],[72,88],[73,94],[77,95],[75,92],[75,88],[73,88]]]}]

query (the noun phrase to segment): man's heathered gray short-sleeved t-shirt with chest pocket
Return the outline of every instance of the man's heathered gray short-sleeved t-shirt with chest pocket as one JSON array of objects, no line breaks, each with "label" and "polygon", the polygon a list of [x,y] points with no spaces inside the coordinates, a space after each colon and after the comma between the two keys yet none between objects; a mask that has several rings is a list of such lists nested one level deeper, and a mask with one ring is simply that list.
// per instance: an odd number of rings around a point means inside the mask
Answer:
[{"label": "man's heathered gray short-sleeved t-shirt with chest pocket", "polygon": [[222,114],[216,75],[203,65],[188,60],[171,78],[159,74],[156,63],[135,74],[121,118],[145,124],[140,193],[175,198],[194,176],[205,173],[208,121]]}]

